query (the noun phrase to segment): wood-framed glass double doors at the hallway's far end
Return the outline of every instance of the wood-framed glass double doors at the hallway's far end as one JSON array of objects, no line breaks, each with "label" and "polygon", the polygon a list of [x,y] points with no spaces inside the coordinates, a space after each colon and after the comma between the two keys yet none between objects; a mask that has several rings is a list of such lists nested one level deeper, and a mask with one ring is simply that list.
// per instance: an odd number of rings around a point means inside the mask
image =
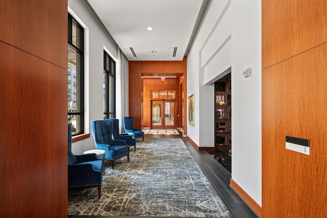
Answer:
[{"label": "wood-framed glass double doors at the hallway's far end", "polygon": [[152,101],[151,129],[174,129],[175,101]]}]

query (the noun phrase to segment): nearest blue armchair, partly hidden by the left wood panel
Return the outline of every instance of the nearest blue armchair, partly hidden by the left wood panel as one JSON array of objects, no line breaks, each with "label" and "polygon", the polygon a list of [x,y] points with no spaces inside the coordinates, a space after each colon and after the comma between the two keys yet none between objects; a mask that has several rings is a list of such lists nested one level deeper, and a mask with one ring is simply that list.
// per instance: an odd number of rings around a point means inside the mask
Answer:
[{"label": "nearest blue armchair, partly hidden by the left wood panel", "polygon": [[103,167],[103,160],[96,154],[72,152],[72,125],[68,124],[68,188],[98,187],[100,199]]}]

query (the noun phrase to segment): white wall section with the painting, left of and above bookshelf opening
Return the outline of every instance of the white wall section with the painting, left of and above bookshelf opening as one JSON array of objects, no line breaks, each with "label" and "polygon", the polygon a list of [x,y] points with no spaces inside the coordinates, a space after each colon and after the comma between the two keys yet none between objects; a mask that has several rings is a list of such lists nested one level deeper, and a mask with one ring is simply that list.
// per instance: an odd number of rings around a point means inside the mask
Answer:
[{"label": "white wall section with the painting, left of and above bookshelf opening", "polygon": [[209,3],[188,54],[188,96],[195,94],[195,127],[188,125],[188,136],[199,147],[215,146],[213,82],[231,66],[229,8],[227,0]]}]

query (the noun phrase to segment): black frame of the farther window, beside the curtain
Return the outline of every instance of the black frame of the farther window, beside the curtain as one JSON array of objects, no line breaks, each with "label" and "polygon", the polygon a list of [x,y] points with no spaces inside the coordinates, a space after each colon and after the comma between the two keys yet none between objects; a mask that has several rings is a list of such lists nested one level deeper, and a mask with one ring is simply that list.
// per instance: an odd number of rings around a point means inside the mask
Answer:
[{"label": "black frame of the farther window, beside the curtain", "polygon": [[[107,59],[108,58],[108,59]],[[107,63],[107,60],[109,63]],[[108,68],[107,69],[107,64]],[[110,57],[110,55],[103,51],[103,74],[105,75],[105,90],[104,90],[104,103],[105,103],[105,110],[103,110],[103,118],[109,119],[114,118],[116,116],[116,62]],[[112,109],[113,111],[109,111],[110,109],[110,98],[107,98],[109,96],[109,90],[110,90],[110,77],[113,79],[113,87],[112,87]]]}]

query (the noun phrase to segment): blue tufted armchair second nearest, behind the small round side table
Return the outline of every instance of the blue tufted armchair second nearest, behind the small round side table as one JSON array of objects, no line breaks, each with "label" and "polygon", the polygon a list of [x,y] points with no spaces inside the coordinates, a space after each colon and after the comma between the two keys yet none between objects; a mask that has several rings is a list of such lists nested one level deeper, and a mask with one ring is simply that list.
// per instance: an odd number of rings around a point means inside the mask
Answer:
[{"label": "blue tufted armchair second nearest, behind the small round side table", "polygon": [[127,155],[129,161],[129,146],[123,140],[112,139],[112,120],[92,120],[92,135],[97,149],[105,150],[104,159],[110,160],[112,169],[114,161]]}]

